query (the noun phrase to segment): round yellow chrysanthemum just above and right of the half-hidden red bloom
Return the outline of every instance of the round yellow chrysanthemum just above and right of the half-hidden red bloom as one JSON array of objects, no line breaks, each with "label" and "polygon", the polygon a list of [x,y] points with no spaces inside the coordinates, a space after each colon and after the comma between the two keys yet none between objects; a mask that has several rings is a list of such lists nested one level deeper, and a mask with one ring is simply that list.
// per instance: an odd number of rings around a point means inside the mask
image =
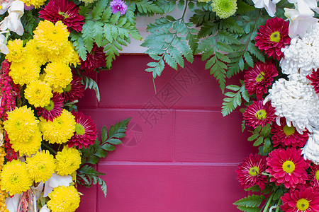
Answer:
[{"label": "round yellow chrysanthemum just above and right of the half-hidden red bloom", "polygon": [[53,92],[62,93],[72,81],[72,71],[67,64],[55,62],[45,67],[45,81],[52,86]]}]

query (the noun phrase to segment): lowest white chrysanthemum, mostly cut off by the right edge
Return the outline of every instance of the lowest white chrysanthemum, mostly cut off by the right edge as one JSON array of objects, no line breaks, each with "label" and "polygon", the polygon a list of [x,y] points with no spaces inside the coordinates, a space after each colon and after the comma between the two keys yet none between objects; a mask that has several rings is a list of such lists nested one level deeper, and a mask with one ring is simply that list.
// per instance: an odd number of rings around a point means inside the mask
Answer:
[{"label": "lowest white chrysanthemum, mostly cut off by the right edge", "polygon": [[314,129],[302,151],[303,158],[319,164],[319,129]]}]

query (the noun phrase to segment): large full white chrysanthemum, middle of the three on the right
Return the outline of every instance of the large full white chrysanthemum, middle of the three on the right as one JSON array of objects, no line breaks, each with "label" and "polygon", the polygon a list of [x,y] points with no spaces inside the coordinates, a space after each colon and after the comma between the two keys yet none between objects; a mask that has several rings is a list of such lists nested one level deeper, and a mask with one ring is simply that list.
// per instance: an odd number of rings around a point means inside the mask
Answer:
[{"label": "large full white chrysanthemum, middle of the three on the right", "polygon": [[280,78],[269,89],[264,101],[268,100],[272,101],[275,114],[285,117],[287,124],[293,124],[300,134],[304,129],[312,131],[319,125],[319,96],[310,84]]}]

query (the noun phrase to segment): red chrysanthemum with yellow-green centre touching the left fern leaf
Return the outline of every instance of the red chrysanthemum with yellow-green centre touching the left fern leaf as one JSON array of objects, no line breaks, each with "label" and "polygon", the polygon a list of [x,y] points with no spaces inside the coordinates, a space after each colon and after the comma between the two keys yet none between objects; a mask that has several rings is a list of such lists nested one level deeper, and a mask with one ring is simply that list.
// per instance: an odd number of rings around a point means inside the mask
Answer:
[{"label": "red chrysanthemum with yellow-green centre touching the left fern leaf", "polygon": [[93,123],[91,117],[84,115],[82,112],[72,111],[75,117],[75,132],[71,139],[69,139],[69,147],[79,146],[79,148],[87,148],[94,144],[97,136],[96,125]]}]

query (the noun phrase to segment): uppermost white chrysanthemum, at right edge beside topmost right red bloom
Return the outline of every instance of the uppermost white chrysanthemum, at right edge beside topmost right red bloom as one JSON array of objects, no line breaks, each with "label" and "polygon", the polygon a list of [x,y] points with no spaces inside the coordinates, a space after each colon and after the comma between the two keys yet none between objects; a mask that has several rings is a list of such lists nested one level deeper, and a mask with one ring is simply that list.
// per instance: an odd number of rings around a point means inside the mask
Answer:
[{"label": "uppermost white chrysanthemum, at right edge beside topmost right red bloom", "polygon": [[289,78],[306,82],[306,76],[319,67],[319,23],[313,25],[301,38],[294,37],[291,45],[282,49],[285,57],[280,65]]}]

